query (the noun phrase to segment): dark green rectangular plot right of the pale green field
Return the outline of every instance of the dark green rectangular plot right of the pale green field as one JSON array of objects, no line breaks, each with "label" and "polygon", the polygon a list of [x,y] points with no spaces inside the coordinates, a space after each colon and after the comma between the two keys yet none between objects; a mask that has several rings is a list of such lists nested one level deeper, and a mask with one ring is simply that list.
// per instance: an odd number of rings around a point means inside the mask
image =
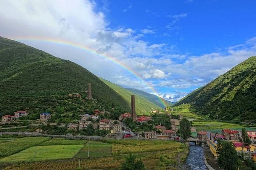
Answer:
[{"label": "dark green rectangular plot right of the pale green field", "polygon": [[[87,158],[88,157],[88,143],[75,155],[75,158]],[[90,152],[89,157],[102,157],[112,155],[112,144],[100,143],[100,142],[90,142]]]}]

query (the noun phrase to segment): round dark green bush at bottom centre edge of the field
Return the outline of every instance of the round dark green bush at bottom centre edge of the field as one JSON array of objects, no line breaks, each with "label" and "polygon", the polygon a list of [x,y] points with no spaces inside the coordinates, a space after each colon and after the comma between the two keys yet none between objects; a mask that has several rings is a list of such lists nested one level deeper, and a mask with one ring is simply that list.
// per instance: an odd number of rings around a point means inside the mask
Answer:
[{"label": "round dark green bush at bottom centre edge of the field", "polygon": [[124,158],[124,162],[122,164],[122,170],[145,170],[143,162],[141,160],[137,160],[136,156],[129,155]]}]

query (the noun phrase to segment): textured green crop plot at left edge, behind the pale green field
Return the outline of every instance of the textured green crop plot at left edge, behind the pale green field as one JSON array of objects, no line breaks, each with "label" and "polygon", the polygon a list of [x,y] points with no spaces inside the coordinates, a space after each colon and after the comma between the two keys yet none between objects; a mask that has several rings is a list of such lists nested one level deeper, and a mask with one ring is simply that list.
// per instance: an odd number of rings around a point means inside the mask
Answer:
[{"label": "textured green crop plot at left edge, behind the pale green field", "polygon": [[14,153],[20,152],[21,150],[27,149],[31,146],[35,146],[49,139],[50,138],[46,137],[26,137],[0,143],[0,158],[13,155]]}]

